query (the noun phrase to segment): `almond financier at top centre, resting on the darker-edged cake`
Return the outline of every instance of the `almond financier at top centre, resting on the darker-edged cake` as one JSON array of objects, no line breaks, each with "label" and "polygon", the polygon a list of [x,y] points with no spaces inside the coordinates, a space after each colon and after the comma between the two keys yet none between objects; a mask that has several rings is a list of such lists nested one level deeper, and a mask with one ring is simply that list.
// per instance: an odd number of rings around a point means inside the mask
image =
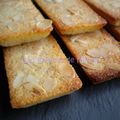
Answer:
[{"label": "almond financier at top centre, resting on the darker-edged cake", "polygon": [[35,0],[56,29],[64,35],[102,28],[106,21],[82,0]]}]

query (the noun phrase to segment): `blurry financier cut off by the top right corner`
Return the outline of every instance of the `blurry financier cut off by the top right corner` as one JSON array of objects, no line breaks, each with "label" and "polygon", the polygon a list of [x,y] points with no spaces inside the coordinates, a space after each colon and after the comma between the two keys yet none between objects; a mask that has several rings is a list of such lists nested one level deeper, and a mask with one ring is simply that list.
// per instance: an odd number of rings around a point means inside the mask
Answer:
[{"label": "blurry financier cut off by the top right corner", "polygon": [[120,0],[84,0],[110,24],[120,26]]}]

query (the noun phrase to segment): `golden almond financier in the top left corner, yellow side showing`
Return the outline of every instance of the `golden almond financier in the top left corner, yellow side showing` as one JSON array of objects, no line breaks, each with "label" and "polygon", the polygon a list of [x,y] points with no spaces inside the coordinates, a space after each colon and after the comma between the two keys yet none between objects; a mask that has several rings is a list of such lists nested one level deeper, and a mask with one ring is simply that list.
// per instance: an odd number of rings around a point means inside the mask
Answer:
[{"label": "golden almond financier in the top left corner, yellow side showing", "polygon": [[0,45],[12,46],[40,40],[52,31],[31,0],[0,0]]}]

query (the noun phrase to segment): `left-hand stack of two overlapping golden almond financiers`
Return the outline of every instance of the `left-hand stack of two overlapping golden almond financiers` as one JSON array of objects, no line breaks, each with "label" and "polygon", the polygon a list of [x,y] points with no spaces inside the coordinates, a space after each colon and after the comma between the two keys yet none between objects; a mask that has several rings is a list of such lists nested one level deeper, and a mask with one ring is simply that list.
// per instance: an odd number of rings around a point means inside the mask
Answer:
[{"label": "left-hand stack of two overlapping golden almond financiers", "polygon": [[6,47],[4,59],[13,108],[48,101],[82,86],[50,35],[52,29],[52,21],[45,19],[31,0],[0,0],[0,45]]}]

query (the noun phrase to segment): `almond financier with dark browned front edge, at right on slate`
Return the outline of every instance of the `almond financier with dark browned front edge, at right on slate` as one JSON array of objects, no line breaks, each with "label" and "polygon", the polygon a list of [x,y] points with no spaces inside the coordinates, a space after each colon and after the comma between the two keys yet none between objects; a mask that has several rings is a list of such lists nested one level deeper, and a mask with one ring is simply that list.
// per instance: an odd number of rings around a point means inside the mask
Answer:
[{"label": "almond financier with dark browned front edge, at right on slate", "polygon": [[94,84],[120,77],[120,44],[105,30],[61,37]]}]

